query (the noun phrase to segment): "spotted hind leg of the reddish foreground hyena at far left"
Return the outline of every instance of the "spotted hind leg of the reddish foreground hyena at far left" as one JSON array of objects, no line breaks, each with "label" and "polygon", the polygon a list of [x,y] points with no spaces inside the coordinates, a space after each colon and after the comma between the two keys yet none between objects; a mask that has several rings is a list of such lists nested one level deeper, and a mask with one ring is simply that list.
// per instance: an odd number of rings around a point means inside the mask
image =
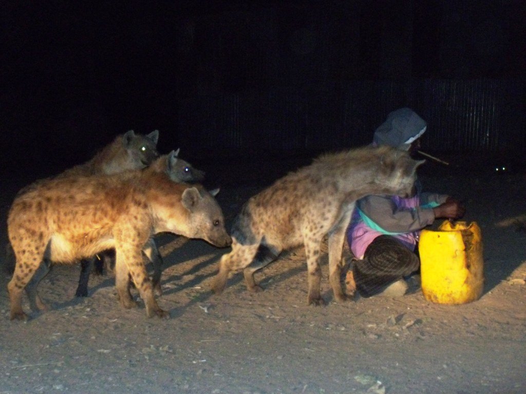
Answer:
[{"label": "spotted hind leg of the reddish foreground hyena at far left", "polygon": [[[27,320],[27,315],[22,310],[22,291],[41,265],[47,247],[49,247],[49,245],[42,244],[35,246],[28,242],[21,242],[17,244],[16,247],[13,247],[16,256],[15,272],[13,273],[13,278],[7,284],[9,301],[11,302],[11,313],[9,314],[11,320]],[[36,285],[38,285],[38,283],[36,283]],[[31,291],[33,293],[29,297],[35,297],[33,299],[36,306],[38,306],[38,303],[44,306],[44,303],[42,303],[42,300],[40,300],[36,293],[36,285],[32,288]]]}]

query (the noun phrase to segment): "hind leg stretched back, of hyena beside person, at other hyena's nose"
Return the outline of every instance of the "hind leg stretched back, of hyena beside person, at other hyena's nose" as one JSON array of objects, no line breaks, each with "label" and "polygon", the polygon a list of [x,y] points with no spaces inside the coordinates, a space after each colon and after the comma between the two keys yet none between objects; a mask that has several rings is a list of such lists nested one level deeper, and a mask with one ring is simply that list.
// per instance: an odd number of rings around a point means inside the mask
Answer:
[{"label": "hind leg stretched back, of hyena beside person, at other hyena's nose", "polygon": [[[254,260],[258,247],[259,242],[251,245],[242,245],[234,238],[232,251],[222,255],[219,261],[219,272],[212,282],[212,291],[216,294],[221,294],[225,289],[230,272],[239,271],[239,269],[247,267],[252,260]],[[254,281],[254,279],[252,279],[252,281]]]}]

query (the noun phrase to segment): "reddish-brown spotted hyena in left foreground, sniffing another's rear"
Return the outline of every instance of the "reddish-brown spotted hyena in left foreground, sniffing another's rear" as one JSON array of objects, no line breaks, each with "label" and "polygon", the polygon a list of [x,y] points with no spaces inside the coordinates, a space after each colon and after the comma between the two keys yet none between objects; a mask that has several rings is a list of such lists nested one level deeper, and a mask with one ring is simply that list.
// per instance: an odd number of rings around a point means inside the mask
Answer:
[{"label": "reddish-brown spotted hyena in left foreground, sniffing another's rear", "polygon": [[[26,318],[22,292],[44,258],[68,264],[109,248],[116,250],[120,303],[126,308],[136,305],[129,291],[131,275],[147,316],[167,317],[154,298],[141,253],[159,232],[228,246],[231,238],[214,199],[216,193],[200,185],[175,183],[164,173],[135,171],[133,177],[59,177],[17,195],[7,219],[16,257],[15,272],[7,285],[11,319]],[[29,299],[45,309],[36,286],[31,292]]]}]

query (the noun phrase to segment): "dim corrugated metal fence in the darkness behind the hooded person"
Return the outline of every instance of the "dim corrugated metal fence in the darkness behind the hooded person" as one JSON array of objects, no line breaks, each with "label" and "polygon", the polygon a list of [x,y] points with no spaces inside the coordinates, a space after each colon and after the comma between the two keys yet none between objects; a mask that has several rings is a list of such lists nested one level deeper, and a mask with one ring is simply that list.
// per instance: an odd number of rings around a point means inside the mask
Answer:
[{"label": "dim corrugated metal fence in the darkness behind the hooded person", "polygon": [[526,150],[524,80],[352,81],[241,94],[200,95],[181,104],[186,152],[328,151],[371,142],[393,109],[428,122],[423,148],[451,153]]}]

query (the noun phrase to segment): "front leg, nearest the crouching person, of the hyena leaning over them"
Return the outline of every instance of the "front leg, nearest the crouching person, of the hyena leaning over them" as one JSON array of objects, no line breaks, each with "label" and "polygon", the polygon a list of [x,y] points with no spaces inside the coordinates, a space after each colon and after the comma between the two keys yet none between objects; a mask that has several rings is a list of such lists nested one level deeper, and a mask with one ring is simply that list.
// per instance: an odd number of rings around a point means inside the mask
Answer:
[{"label": "front leg, nearest the crouching person, of the hyena leaning over them", "polygon": [[[352,205],[354,206],[354,204]],[[343,293],[340,283],[341,255],[345,232],[351,218],[352,209],[343,213],[340,221],[329,231],[329,283],[332,287],[334,297],[338,302],[344,302],[349,298]]]}]

